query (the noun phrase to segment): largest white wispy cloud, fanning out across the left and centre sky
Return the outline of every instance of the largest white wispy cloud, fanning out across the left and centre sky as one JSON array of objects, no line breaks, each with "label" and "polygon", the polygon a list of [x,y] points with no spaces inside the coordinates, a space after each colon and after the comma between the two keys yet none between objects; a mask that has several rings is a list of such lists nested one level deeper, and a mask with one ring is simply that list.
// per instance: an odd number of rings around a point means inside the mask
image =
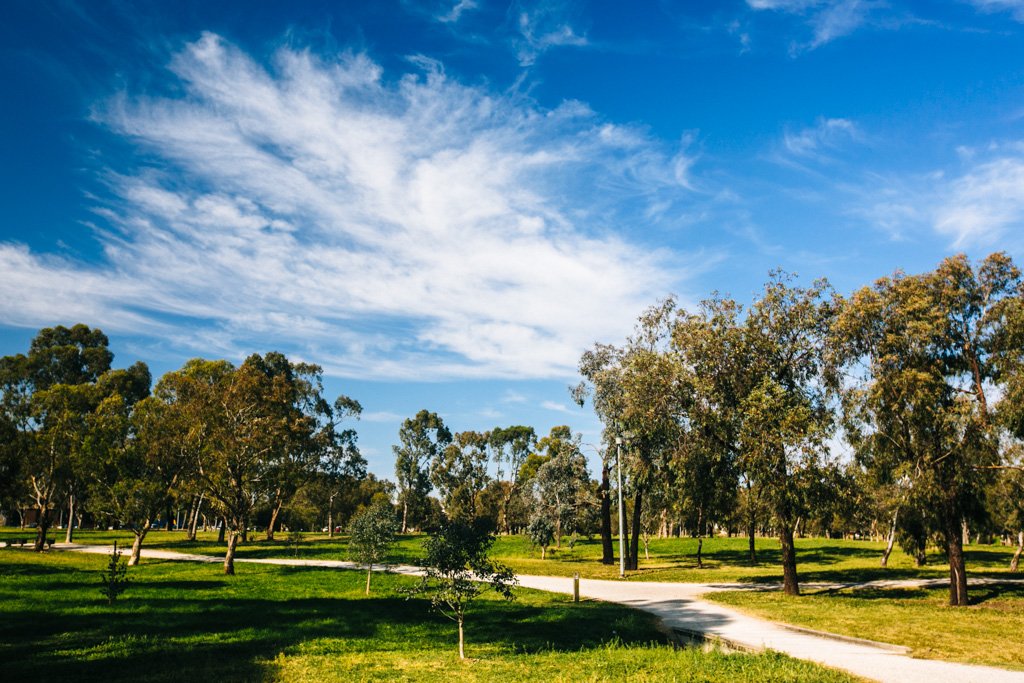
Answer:
[{"label": "largest white wispy cloud, fanning out across the left and centre sky", "polygon": [[345,376],[571,375],[685,278],[609,207],[684,201],[689,158],[415,66],[283,49],[266,68],[204,35],[171,62],[180,96],[96,109],[151,162],[110,176],[103,261],[0,244],[0,315],[284,346]]}]

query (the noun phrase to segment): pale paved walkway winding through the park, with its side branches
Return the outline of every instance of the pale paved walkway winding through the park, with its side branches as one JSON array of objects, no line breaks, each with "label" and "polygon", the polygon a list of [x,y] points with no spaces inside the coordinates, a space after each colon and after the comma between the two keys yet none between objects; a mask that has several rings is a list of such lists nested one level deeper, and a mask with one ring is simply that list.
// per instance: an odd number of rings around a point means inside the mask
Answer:
[{"label": "pale paved walkway winding through the park, with its side branches", "polygon": [[[110,553],[103,546],[77,546],[57,544],[57,550],[89,553]],[[142,556],[153,559],[190,560],[197,562],[223,562],[223,558],[189,555],[166,550],[142,550]],[[300,559],[250,559],[236,558],[237,563],[280,564],[287,566],[313,566],[337,569],[365,568],[354,562],[341,560]],[[388,571],[417,575],[419,567],[390,565]],[[972,584],[992,583],[986,580]],[[1024,583],[1010,580],[1009,583]],[[572,592],[572,580],[564,577],[519,575],[519,585],[555,593]],[[942,585],[934,581],[869,582],[846,586],[906,586]],[[834,585],[827,585],[834,586]],[[808,586],[809,587],[809,586]],[[822,587],[826,587],[822,585]],[[1024,683],[1024,673],[1011,672],[994,667],[915,659],[903,652],[905,648],[866,641],[823,637],[800,633],[772,622],[743,614],[735,609],[701,600],[700,596],[714,591],[750,589],[741,584],[672,584],[653,582],[622,582],[580,580],[580,594],[595,600],[615,602],[635,607],[658,616],[670,629],[683,633],[703,634],[720,639],[733,647],[760,651],[772,649],[800,658],[816,661],[826,667],[842,669],[851,674],[887,683]]]}]

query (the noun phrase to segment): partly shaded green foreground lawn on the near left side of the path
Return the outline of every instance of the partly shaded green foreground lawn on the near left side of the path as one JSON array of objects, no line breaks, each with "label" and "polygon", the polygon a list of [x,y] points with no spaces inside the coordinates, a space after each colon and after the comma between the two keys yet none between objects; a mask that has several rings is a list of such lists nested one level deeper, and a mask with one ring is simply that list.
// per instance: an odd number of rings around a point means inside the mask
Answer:
[{"label": "partly shaded green foreground lawn on the near left side of the path", "polygon": [[[100,539],[96,539],[97,542]],[[0,680],[849,681],[781,655],[663,644],[651,617],[521,590],[480,599],[460,663],[452,623],[361,572],[147,561],[114,605],[105,558],[0,550]]]}]

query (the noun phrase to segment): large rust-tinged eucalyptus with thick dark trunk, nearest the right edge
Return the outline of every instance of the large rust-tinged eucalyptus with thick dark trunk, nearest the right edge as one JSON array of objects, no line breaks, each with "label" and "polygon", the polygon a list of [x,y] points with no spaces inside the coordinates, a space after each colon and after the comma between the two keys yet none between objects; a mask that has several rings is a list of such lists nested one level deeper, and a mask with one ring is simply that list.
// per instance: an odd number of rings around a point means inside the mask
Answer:
[{"label": "large rust-tinged eucalyptus with thick dark trunk, nearest the right edge", "polygon": [[1006,254],[977,267],[959,255],[931,272],[897,272],[857,291],[837,326],[854,380],[847,431],[857,434],[870,467],[909,477],[934,515],[951,605],[968,604],[962,525],[981,512],[991,468],[999,466],[988,393],[999,380],[1008,310],[1020,295],[1020,273]]}]

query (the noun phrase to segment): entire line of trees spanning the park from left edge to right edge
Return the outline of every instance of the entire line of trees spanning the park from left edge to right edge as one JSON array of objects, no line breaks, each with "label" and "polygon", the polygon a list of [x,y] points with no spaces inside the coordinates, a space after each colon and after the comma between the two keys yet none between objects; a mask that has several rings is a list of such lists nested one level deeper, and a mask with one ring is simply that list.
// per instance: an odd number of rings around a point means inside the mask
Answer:
[{"label": "entire line of trees spanning the park from left edge to right edge", "polygon": [[[374,500],[402,532],[450,521],[525,532],[541,548],[599,533],[614,561],[613,494],[625,498],[625,562],[651,536],[775,536],[784,590],[799,593],[795,537],[884,538],[926,561],[942,548],[950,603],[967,603],[974,535],[1024,549],[1024,288],[1006,254],[896,272],[849,296],[826,281],[770,274],[749,305],[669,298],[622,345],[583,353],[571,393],[604,425],[592,480],[581,436],[513,425],[454,432],[427,410],[402,422],[395,483],[367,473],[349,423],[358,401],[324,396],[317,366],[281,353],[240,366],[193,359],[151,390],[143,364],[111,368],[98,330],[46,329],[0,358],[0,503],[135,531],[186,510],[233,551],[283,515],[333,533]],[[621,492],[613,468],[622,466]],[[23,517],[24,519],[24,517]],[[73,523],[67,540],[71,541]]]}]

